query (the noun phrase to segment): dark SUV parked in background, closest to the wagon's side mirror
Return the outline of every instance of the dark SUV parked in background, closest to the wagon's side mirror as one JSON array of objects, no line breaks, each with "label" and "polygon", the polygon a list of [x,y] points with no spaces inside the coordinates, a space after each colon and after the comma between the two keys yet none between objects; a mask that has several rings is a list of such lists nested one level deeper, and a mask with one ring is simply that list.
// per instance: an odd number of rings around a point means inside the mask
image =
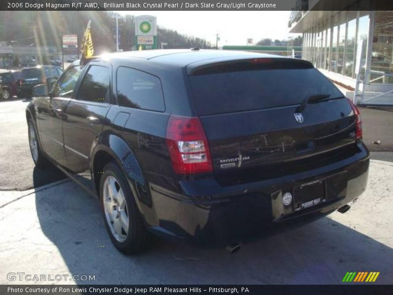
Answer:
[{"label": "dark SUV parked in background, closest to the wagon's side mirror", "polygon": [[30,98],[31,90],[39,84],[46,84],[51,87],[58,77],[63,73],[63,69],[53,65],[41,65],[24,68],[21,72],[21,82],[18,89],[19,97]]}]

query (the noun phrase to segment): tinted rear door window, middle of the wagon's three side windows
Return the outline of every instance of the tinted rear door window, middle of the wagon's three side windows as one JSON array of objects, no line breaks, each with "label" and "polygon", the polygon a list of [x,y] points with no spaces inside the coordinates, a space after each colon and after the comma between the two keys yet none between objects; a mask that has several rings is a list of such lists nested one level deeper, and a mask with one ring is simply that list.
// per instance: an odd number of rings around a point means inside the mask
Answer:
[{"label": "tinted rear door window, middle of the wagon's three side windows", "polygon": [[83,78],[77,99],[92,102],[111,102],[110,70],[105,66],[91,65]]}]

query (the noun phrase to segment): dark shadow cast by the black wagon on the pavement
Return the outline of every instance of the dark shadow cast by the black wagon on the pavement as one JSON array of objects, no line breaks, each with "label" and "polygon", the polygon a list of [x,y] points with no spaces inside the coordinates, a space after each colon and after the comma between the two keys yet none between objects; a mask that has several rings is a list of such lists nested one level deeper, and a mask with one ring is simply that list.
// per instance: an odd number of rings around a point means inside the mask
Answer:
[{"label": "dark shadow cast by the black wagon on the pavement", "polygon": [[328,217],[235,254],[160,240],[143,254],[124,256],[106,233],[99,201],[76,184],[37,191],[35,198],[42,232],[69,271],[95,275],[80,283],[338,284],[347,271],[380,271],[378,283],[388,283],[392,272],[392,248]]}]

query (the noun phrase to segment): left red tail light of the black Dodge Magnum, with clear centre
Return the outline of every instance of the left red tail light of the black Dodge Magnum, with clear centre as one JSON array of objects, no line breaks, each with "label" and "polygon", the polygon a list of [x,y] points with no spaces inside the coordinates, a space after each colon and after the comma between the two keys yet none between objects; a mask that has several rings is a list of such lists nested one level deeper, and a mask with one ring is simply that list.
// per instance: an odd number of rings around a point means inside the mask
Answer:
[{"label": "left red tail light of the black Dodge Magnum, with clear centre", "polygon": [[170,116],[166,138],[177,174],[213,171],[209,144],[199,118]]}]

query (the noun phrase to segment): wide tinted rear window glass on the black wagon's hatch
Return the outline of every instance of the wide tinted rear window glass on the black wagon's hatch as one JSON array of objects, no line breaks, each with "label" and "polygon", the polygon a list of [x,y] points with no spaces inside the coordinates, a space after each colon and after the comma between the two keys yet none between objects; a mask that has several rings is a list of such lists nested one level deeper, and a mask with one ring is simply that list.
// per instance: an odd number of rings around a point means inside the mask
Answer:
[{"label": "wide tinted rear window glass on the black wagon's hatch", "polygon": [[205,67],[189,79],[201,116],[295,105],[314,94],[342,96],[311,65],[288,59],[255,59]]}]

